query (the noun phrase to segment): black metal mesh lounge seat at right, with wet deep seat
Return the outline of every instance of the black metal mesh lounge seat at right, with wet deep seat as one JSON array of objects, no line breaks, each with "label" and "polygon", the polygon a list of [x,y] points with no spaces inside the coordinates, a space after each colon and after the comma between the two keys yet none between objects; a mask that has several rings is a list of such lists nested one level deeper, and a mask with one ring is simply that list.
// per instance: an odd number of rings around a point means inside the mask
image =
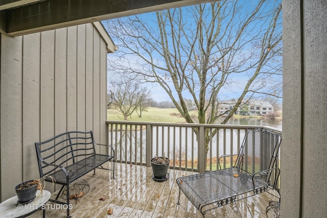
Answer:
[{"label": "black metal mesh lounge seat at right, with wet deep seat", "polygon": [[[228,157],[231,167],[219,169],[176,180],[180,191],[202,213],[223,205],[277,188],[280,174],[277,167],[277,156],[282,135],[268,129],[249,128],[237,155],[223,155],[220,160]],[[236,157],[232,165],[233,156]],[[226,163],[226,162],[225,162]],[[220,167],[221,168],[221,167]],[[251,195],[244,195],[251,193]]]}]

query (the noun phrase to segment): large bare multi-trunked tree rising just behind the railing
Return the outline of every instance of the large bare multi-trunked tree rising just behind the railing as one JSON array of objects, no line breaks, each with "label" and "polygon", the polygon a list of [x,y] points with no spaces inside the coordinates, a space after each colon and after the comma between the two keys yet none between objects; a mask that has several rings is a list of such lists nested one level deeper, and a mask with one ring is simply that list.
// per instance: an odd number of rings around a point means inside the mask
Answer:
[{"label": "large bare multi-trunked tree rising just behind the railing", "polygon": [[[194,121],[184,93],[192,95],[198,122],[214,124],[219,96],[226,89],[237,92],[225,124],[245,99],[262,93],[281,96],[281,11],[277,0],[234,0],[159,11],[154,19],[108,20],[107,31],[120,47],[109,65],[125,76],[159,84],[187,123]],[[209,138],[207,132],[206,151]]]}]

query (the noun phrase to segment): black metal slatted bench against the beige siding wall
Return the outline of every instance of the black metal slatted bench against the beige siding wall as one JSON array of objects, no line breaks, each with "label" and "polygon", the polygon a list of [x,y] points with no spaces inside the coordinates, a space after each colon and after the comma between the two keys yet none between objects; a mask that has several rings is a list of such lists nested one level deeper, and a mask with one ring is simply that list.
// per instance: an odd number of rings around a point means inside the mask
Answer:
[{"label": "black metal slatted bench against the beige siding wall", "polygon": [[[105,154],[96,153],[96,145],[104,146]],[[35,142],[37,160],[39,165],[40,176],[52,176],[56,183],[62,185],[56,199],[49,201],[66,204],[67,217],[69,216],[69,183],[76,181],[78,178],[96,168],[113,171],[114,179],[114,150],[106,144],[98,144],[90,132],[72,131],[62,133],[43,142]],[[109,155],[110,154],[110,155]],[[112,160],[113,168],[102,167],[102,164]],[[52,182],[50,178],[46,181]],[[67,202],[58,201],[58,197],[67,187]]]}]

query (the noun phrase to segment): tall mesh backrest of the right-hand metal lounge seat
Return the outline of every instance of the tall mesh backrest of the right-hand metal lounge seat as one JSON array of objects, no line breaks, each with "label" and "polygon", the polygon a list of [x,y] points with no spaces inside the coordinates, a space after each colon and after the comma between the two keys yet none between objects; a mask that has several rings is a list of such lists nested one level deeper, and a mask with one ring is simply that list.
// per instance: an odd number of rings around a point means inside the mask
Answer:
[{"label": "tall mesh backrest of the right-hand metal lounge seat", "polygon": [[[248,128],[239,151],[235,167],[254,174],[267,169],[278,168],[278,151],[282,142],[282,134],[264,128]],[[266,182],[275,184],[278,171],[270,171],[263,175]]]}]

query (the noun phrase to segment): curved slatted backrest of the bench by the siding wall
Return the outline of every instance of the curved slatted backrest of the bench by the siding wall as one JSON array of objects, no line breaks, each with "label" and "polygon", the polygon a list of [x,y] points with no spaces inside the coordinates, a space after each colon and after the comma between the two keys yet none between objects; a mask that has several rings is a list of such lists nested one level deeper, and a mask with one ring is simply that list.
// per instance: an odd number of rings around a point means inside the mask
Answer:
[{"label": "curved slatted backrest of the bench by the siding wall", "polygon": [[92,131],[72,131],[62,133],[43,142],[35,142],[40,176],[54,173],[58,167],[49,166],[42,161],[67,166],[96,153]]}]

